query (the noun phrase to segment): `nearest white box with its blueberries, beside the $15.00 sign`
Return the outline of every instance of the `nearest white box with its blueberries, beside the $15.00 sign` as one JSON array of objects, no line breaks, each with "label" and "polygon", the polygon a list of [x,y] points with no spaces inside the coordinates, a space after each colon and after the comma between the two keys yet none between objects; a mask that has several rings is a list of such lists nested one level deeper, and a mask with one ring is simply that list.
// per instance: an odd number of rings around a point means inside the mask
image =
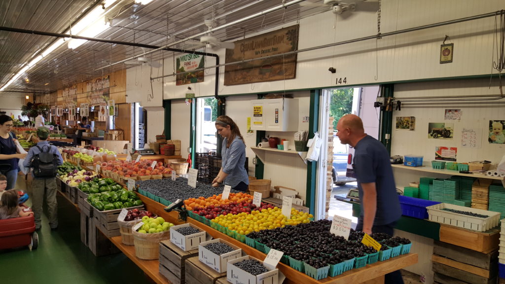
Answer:
[{"label": "nearest white box with its blueberries, beside the $15.00 sign", "polygon": [[263,261],[247,255],[228,261],[226,280],[232,284],[279,284],[279,270],[266,267]]}]

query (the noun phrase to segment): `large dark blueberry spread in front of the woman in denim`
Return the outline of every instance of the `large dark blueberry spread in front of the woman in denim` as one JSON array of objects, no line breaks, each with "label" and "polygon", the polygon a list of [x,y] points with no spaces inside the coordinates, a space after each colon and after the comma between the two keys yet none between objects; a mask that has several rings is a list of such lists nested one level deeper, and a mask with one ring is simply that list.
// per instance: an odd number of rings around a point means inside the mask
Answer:
[{"label": "large dark blueberry spread in front of the woman in denim", "polygon": [[[196,187],[188,185],[187,178],[178,177],[176,180],[170,178],[139,180],[135,183],[140,190],[161,197],[169,202],[177,199],[186,200],[191,197],[210,197],[223,193],[223,186],[213,187],[211,184],[196,182]],[[232,193],[237,191],[232,190]]]}]

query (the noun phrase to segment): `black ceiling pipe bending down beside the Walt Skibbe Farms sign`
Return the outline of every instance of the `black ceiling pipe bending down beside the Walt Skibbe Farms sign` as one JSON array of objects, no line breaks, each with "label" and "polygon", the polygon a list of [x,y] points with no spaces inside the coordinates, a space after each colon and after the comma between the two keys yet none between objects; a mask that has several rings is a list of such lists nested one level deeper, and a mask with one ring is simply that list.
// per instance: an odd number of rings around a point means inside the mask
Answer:
[{"label": "black ceiling pipe bending down beside the Walt Skibbe Farms sign", "polygon": [[[197,55],[201,55],[201,56],[210,56],[210,57],[215,57],[216,58],[216,64],[219,66],[219,55],[217,55],[215,53],[198,52],[198,51],[187,51],[187,50],[173,49],[173,48],[168,48],[168,47],[160,47],[160,46],[157,46],[157,45],[150,45],[150,44],[126,42],[126,41],[112,40],[112,39],[105,39],[105,38],[87,37],[87,36],[72,35],[72,34],[65,34],[65,33],[45,32],[45,31],[36,31],[36,30],[26,30],[26,29],[18,29],[18,28],[11,28],[11,27],[0,27],[0,31],[29,33],[29,34],[36,34],[36,35],[63,37],[63,38],[85,39],[85,40],[89,40],[89,41],[98,41],[98,42],[122,44],[122,45],[129,45],[129,46],[137,46],[139,48],[155,49],[156,51],[158,51],[158,50],[165,50],[165,51],[171,51],[171,52],[180,52],[180,53],[186,53],[186,54],[197,54]],[[132,58],[137,58],[137,57],[139,57],[139,56],[132,57]],[[124,62],[124,61],[122,61],[122,62]],[[115,64],[113,64],[113,65],[115,65]],[[112,66],[112,65],[108,65],[108,66]],[[103,68],[105,68],[105,67],[103,67]],[[99,69],[96,69],[96,70],[100,70],[100,69],[103,69],[103,68],[99,68]],[[218,89],[219,89],[219,67],[216,67],[216,86],[215,86],[215,93],[214,93],[214,97],[216,99],[218,98]]]}]

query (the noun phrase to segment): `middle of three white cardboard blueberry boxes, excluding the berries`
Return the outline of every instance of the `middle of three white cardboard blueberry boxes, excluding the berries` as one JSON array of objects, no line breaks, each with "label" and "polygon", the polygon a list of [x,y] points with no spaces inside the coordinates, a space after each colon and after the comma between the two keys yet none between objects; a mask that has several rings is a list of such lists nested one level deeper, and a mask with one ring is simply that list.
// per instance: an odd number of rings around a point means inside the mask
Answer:
[{"label": "middle of three white cardboard blueberry boxes, excluding the berries", "polygon": [[[205,246],[213,243],[226,244],[235,250],[222,255],[217,255],[205,248]],[[242,257],[242,250],[221,239],[203,242],[198,246],[198,260],[207,264],[209,267],[219,273],[226,272],[228,260],[236,259],[239,257]]]}]

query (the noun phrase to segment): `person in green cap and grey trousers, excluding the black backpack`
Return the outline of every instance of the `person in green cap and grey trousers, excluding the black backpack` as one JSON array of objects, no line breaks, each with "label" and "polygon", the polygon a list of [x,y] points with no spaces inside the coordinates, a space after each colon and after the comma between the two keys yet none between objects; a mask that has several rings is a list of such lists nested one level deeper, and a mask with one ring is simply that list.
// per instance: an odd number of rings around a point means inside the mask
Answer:
[{"label": "person in green cap and grey trousers, excluding the black backpack", "polygon": [[[34,164],[34,159],[39,157],[42,152],[48,152],[54,155],[56,161],[55,166],[63,164],[63,158],[58,149],[55,146],[49,145],[46,141],[49,137],[49,129],[47,127],[37,128],[37,137],[39,138],[39,143],[36,146],[30,148],[28,155],[26,156],[23,166],[26,168],[32,168]],[[32,210],[35,213],[35,229],[38,230],[42,226],[42,203],[45,195],[47,202],[47,213],[49,219],[49,227],[52,230],[58,228],[58,203],[56,201],[56,173],[48,177],[40,177],[36,174],[37,169],[34,168],[32,171],[33,181],[32,181]]]}]

